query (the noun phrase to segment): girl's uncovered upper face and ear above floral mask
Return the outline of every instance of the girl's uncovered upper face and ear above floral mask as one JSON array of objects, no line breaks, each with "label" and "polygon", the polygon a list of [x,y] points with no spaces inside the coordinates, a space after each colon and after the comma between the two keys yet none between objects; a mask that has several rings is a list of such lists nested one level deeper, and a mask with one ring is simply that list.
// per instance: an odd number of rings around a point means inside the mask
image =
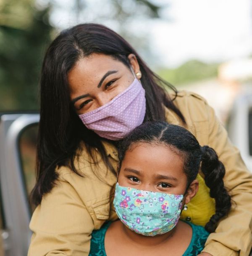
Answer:
[{"label": "girl's uncovered upper face and ear above floral mask", "polygon": [[[184,195],[187,177],[183,164],[181,157],[169,147],[139,142],[126,152],[118,183],[123,187]],[[184,203],[189,203],[197,190],[198,181],[194,180],[184,195]]]}]

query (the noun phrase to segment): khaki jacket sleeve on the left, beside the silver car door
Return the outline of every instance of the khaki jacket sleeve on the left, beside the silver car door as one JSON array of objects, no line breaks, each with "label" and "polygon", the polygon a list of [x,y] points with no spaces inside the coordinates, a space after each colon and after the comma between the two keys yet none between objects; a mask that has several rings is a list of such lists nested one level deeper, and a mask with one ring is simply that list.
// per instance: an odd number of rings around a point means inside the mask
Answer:
[{"label": "khaki jacket sleeve on the left, beside the silver car door", "polygon": [[74,187],[57,181],[35,209],[28,256],[87,256],[94,224]]}]

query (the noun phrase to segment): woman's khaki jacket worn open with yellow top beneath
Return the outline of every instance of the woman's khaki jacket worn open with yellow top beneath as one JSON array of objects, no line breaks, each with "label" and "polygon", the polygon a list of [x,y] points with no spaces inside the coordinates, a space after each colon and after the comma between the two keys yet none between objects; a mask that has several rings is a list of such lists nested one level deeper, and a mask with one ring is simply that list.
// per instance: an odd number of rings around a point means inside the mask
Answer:
[{"label": "woman's khaki jacket worn open with yellow top beneath", "polygon": [[[174,103],[186,118],[186,128],[196,136],[199,144],[213,147],[224,163],[224,182],[233,200],[228,217],[220,221],[215,233],[210,234],[203,251],[213,256],[248,256],[252,246],[251,173],[204,99],[182,91]],[[166,120],[182,125],[169,109],[166,109]],[[117,150],[108,142],[104,142],[104,146],[116,168]],[[98,164],[92,163],[85,147],[76,159],[76,167],[84,177],[66,167],[58,169],[57,185],[43,197],[33,213],[28,256],[88,255],[92,230],[99,229],[107,220],[117,219],[113,209],[116,177],[107,170],[95,149],[94,152]],[[214,213],[215,205],[202,173],[199,174],[199,192],[182,212],[181,218],[204,225]]]}]

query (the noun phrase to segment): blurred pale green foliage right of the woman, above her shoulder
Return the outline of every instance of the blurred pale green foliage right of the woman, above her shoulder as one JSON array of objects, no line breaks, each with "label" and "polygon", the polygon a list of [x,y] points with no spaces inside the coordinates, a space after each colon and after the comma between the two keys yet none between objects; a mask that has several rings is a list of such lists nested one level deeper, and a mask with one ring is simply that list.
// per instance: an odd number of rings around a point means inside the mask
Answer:
[{"label": "blurred pale green foliage right of the woman, above her shoulder", "polygon": [[217,77],[219,64],[206,64],[198,60],[187,61],[176,69],[157,69],[160,77],[177,86]]}]

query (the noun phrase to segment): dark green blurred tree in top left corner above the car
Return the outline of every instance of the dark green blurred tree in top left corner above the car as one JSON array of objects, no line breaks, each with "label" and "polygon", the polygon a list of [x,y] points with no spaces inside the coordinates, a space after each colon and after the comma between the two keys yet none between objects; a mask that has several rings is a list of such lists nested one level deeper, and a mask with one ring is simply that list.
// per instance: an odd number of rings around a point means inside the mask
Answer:
[{"label": "dark green blurred tree in top left corner above the car", "polygon": [[34,0],[0,2],[0,110],[38,109],[42,56],[53,31],[49,12]]}]

